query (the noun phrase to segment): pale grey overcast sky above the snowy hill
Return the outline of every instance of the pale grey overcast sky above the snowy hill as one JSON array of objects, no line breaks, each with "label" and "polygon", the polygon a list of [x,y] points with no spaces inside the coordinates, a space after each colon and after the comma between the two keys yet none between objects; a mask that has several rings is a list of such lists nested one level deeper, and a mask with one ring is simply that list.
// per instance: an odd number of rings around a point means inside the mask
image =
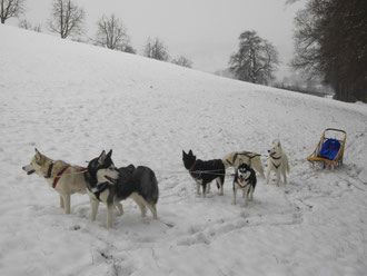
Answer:
[{"label": "pale grey overcast sky above the snowy hill", "polygon": [[[238,49],[238,37],[255,30],[279,51],[282,65],[278,78],[287,75],[292,51],[294,18],[302,1],[286,0],[73,0],[86,10],[88,36],[96,33],[102,14],[115,13],[125,24],[132,47],[142,55],[148,39],[160,38],[171,58],[180,55],[194,68],[215,72],[227,68],[229,56]],[[47,32],[51,0],[26,0],[26,18],[42,24]],[[14,24],[14,22],[12,22]],[[289,69],[288,69],[289,71]]]}]

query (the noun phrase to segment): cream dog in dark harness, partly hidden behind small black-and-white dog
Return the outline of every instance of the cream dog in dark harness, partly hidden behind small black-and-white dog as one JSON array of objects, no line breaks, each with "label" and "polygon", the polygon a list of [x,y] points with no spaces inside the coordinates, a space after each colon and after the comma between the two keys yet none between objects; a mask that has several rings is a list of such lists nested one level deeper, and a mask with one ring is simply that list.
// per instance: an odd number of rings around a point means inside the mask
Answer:
[{"label": "cream dog in dark harness, partly hidden behind small black-and-white dog", "polygon": [[250,165],[251,168],[256,169],[261,177],[265,178],[260,155],[258,154],[250,151],[230,152],[222,158],[222,162],[225,164],[226,169],[234,167],[235,170],[241,162],[246,162],[247,165]]}]

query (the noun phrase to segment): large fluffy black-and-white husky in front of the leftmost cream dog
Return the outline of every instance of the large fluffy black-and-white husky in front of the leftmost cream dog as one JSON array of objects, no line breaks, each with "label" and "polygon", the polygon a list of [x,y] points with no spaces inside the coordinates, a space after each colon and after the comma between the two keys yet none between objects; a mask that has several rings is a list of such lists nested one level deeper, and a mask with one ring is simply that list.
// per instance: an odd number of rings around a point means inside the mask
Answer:
[{"label": "large fluffy black-and-white husky in front of the leftmost cream dog", "polygon": [[121,200],[131,197],[140,208],[141,216],[146,216],[148,207],[157,219],[156,204],[159,190],[155,172],[143,166],[116,168],[111,159],[112,150],[107,155],[103,150],[99,157],[92,159],[85,174],[91,205],[91,220],[96,220],[99,201],[107,205],[107,228],[112,227],[113,206],[123,214]]}]

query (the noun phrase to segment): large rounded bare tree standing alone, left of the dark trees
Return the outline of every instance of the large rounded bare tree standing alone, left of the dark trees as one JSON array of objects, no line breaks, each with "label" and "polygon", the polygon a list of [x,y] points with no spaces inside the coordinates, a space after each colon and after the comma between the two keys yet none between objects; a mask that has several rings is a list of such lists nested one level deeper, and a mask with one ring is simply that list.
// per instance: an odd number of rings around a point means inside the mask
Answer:
[{"label": "large rounded bare tree standing alone, left of the dark trees", "polygon": [[231,55],[229,70],[239,79],[267,85],[279,63],[276,48],[255,31],[239,37],[239,50]]}]

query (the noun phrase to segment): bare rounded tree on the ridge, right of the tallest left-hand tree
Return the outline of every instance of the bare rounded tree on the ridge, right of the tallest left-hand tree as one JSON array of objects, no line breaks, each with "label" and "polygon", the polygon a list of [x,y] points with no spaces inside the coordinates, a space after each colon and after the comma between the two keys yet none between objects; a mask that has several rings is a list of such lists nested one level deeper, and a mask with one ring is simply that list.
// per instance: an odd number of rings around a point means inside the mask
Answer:
[{"label": "bare rounded tree on the ridge, right of the tallest left-hand tree", "polygon": [[115,14],[110,17],[102,16],[97,24],[96,45],[135,53],[135,50],[130,46],[130,38],[127,34],[126,28]]}]

